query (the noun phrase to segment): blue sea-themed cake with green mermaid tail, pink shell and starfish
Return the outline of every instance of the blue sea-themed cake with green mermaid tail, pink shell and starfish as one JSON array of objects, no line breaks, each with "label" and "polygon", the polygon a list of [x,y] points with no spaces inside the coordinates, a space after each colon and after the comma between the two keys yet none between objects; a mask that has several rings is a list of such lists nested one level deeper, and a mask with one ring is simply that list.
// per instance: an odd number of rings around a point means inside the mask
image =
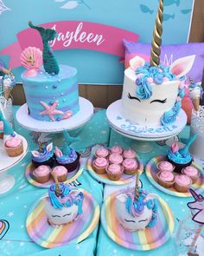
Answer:
[{"label": "blue sea-themed cake with green mermaid tail, pink shell and starfish", "polygon": [[[23,89],[29,115],[39,121],[61,121],[80,110],[77,69],[58,65],[48,42],[55,30],[44,29],[29,22],[42,39],[43,50],[29,47],[22,51]],[[42,65],[43,64],[43,65]]]}]

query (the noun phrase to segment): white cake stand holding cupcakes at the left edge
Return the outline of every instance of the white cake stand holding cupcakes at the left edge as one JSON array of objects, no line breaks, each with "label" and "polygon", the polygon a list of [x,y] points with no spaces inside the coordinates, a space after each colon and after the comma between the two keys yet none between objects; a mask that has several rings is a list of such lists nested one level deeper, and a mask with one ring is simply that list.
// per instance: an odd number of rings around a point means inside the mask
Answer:
[{"label": "white cake stand holding cupcakes at the left edge", "polygon": [[19,135],[22,139],[23,143],[23,153],[21,155],[18,155],[16,157],[10,157],[5,149],[3,148],[3,140],[0,140],[0,155],[1,155],[1,161],[0,161],[0,194],[4,194],[8,192],[12,187],[15,185],[15,178],[7,174],[7,171],[14,167],[19,161],[22,161],[22,158],[27,154],[28,152],[28,142],[25,138],[23,138],[21,135]]}]

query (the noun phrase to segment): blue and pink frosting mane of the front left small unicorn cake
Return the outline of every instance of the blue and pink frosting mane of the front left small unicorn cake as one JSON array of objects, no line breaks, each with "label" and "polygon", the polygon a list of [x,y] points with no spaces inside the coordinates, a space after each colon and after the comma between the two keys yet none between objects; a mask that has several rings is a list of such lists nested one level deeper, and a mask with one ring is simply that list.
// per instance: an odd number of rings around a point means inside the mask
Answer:
[{"label": "blue and pink frosting mane of the front left small unicorn cake", "polygon": [[62,207],[72,207],[73,204],[78,206],[78,215],[83,213],[82,210],[82,203],[84,200],[84,194],[82,192],[79,192],[76,195],[73,195],[72,192],[75,191],[75,188],[70,188],[66,184],[61,183],[61,195],[57,196],[55,192],[55,184],[52,184],[49,187],[48,194],[49,194],[49,200],[52,204],[52,206],[55,209],[61,209]]}]

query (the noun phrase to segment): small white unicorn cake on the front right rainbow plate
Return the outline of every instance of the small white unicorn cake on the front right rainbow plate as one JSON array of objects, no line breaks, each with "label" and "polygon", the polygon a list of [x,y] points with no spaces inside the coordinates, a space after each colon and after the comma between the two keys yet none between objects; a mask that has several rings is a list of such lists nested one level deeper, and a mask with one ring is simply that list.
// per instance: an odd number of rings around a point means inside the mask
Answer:
[{"label": "small white unicorn cake on the front right rainbow plate", "polygon": [[130,232],[145,230],[156,225],[158,202],[154,194],[138,187],[127,189],[116,197],[116,217],[124,229]]}]

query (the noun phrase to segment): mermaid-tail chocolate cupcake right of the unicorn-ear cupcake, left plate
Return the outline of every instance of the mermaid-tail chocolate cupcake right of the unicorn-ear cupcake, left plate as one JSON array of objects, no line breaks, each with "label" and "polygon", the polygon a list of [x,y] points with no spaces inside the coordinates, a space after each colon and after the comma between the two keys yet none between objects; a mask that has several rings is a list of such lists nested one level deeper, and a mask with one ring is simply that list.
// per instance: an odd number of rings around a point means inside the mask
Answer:
[{"label": "mermaid-tail chocolate cupcake right of the unicorn-ear cupcake, left plate", "polygon": [[58,165],[67,168],[67,172],[73,172],[79,165],[80,154],[76,152],[73,148],[69,147],[74,141],[79,141],[77,138],[70,137],[67,131],[63,131],[65,138],[65,144],[62,149],[55,147],[54,154],[55,160]]}]

